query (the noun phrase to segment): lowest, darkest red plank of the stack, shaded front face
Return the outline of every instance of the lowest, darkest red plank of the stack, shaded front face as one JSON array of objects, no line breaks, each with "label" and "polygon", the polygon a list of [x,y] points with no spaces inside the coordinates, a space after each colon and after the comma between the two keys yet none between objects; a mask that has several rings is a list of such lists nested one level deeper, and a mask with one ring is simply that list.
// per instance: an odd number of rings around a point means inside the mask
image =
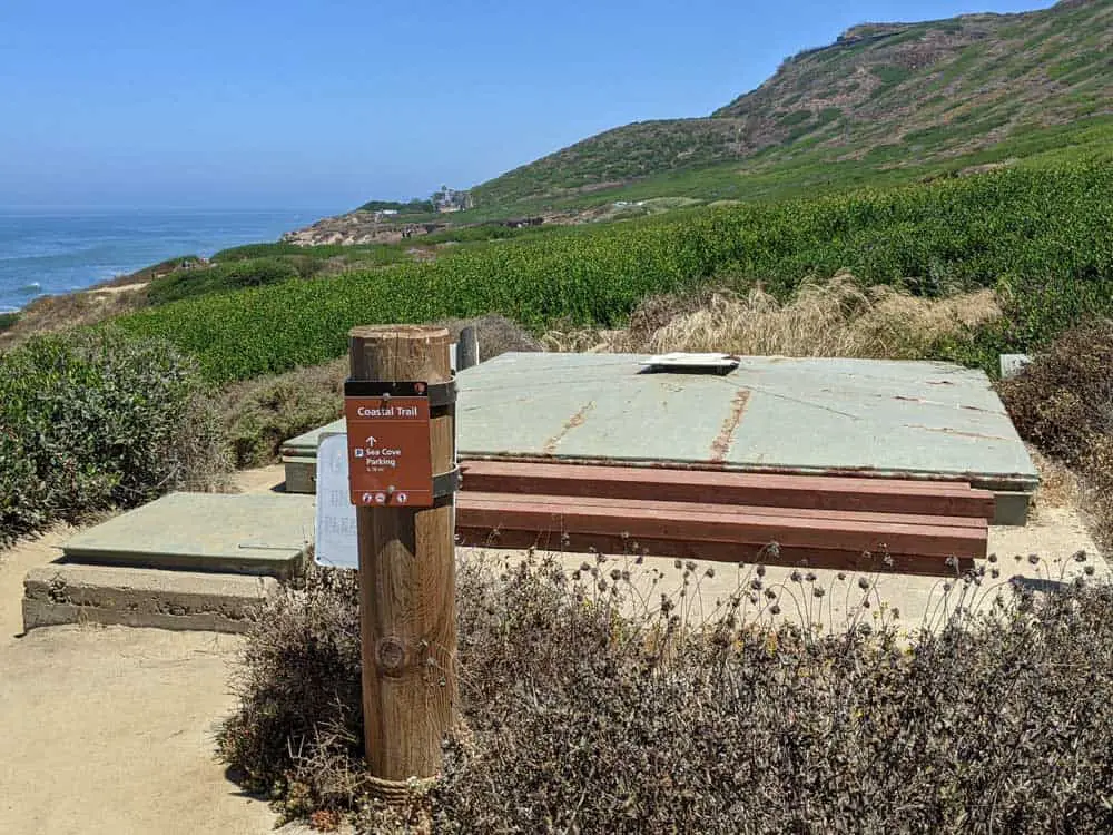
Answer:
[{"label": "lowest, darkest red plank of the stack, shaded front face", "polygon": [[568,533],[539,533],[538,531],[508,530],[491,531],[482,528],[456,525],[457,542],[464,547],[491,549],[529,549],[563,553],[604,553],[611,556],[647,554],[711,562],[761,563],[765,566],[788,566],[808,569],[831,569],[864,573],[886,572],[902,574],[924,574],[930,577],[957,577],[974,567],[974,560],[957,558],[947,564],[944,557],[923,554],[864,553],[831,548],[789,548],[776,551],[752,544],[730,542],[681,542],[662,539],[624,539],[622,537]]}]

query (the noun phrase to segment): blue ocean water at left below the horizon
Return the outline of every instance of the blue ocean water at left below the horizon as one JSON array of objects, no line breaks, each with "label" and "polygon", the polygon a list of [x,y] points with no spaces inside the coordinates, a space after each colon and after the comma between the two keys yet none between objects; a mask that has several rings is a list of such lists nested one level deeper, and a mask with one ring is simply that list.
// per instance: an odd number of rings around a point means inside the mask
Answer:
[{"label": "blue ocean water at left below the horizon", "polygon": [[178,255],[208,257],[277,240],[338,209],[132,209],[47,212],[0,208],[0,312],[42,295],[85,289]]}]

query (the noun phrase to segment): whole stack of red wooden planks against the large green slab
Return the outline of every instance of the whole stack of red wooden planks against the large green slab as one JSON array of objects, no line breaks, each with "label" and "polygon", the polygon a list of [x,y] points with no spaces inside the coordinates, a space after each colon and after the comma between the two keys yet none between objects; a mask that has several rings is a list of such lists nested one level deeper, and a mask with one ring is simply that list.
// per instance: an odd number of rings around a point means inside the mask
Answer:
[{"label": "whole stack of red wooden planks against the large green slab", "polygon": [[967,483],[465,462],[465,544],[954,574],[984,558],[993,493]]}]

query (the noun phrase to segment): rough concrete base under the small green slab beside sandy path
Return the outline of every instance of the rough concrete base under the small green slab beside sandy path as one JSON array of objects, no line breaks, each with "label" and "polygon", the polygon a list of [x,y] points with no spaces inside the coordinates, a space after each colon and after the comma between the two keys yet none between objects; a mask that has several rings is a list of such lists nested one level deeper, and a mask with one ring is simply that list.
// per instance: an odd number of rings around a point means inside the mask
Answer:
[{"label": "rough concrete base under the small green slab beside sandy path", "polygon": [[23,579],[23,631],[62,623],[245,632],[272,577],[56,563]]}]

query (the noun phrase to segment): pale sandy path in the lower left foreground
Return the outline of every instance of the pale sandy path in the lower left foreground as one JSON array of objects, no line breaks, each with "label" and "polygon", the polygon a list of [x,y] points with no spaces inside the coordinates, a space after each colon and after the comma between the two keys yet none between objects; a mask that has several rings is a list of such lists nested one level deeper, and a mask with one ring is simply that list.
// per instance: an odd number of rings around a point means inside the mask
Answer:
[{"label": "pale sandy path in the lower left foreground", "polygon": [[127,627],[19,637],[23,576],[67,536],[0,553],[0,833],[274,832],[267,805],[213,756],[238,637]]}]

